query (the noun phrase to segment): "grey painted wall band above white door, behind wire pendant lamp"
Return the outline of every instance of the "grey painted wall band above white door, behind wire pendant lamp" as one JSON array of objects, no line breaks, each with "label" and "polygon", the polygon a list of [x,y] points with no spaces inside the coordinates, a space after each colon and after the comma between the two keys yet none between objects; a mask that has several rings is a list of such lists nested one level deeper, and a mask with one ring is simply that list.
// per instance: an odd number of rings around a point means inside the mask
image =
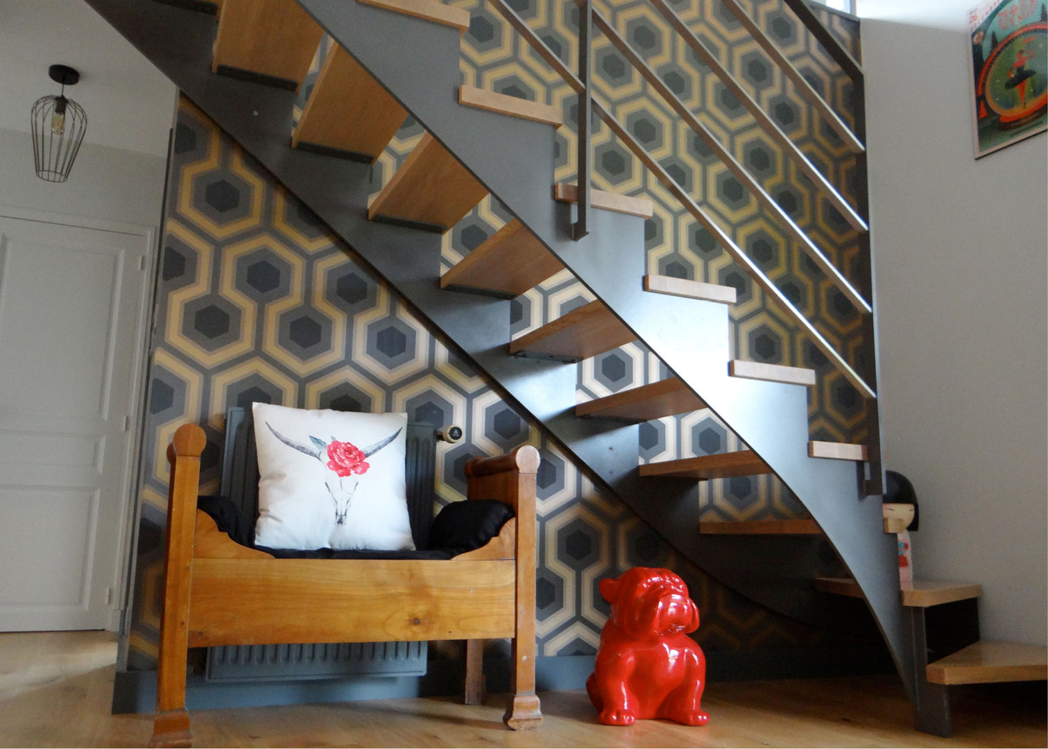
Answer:
[{"label": "grey painted wall band above white door, behind wire pendant lamp", "polygon": [[32,170],[27,113],[25,132],[0,128],[0,206],[159,227],[166,166],[161,156],[84,144],[69,180],[45,182]]}]

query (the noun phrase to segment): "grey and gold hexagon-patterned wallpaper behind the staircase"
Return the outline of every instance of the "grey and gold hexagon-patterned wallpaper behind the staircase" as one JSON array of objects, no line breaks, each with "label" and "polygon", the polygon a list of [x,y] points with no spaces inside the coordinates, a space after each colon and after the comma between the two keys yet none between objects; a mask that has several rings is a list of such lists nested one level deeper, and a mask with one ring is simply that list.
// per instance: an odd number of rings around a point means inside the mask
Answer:
[{"label": "grey and gold hexagon-patterned wallpaper behind the staircase", "polygon": [[[798,27],[779,0],[752,0],[769,29],[806,78],[850,118],[850,86],[826,53]],[[481,0],[452,0],[471,12],[463,37],[463,81],[503,93],[556,104],[568,127],[559,141],[556,178],[573,181],[574,96]],[[570,0],[511,0],[542,38],[570,61],[576,17]],[[791,85],[766,62],[719,0],[674,6],[743,85],[789,131],[805,154],[825,167],[848,195],[855,160],[823,127]],[[853,280],[865,259],[855,237],[779,149],[643,0],[608,0],[601,9],[668,85],[685,100],[746,164],[794,221],[815,237]],[[857,51],[857,27],[826,13],[842,40]],[[323,57],[325,41],[318,56]],[[570,63],[572,64],[573,63]],[[842,351],[861,350],[858,317],[793,247],[773,219],[716,162],[670,109],[629,69],[605,40],[596,51],[598,89],[616,115],[697,195],[787,295]],[[315,70],[303,87],[308,95]],[[418,141],[410,119],[380,156],[374,190],[390,179]],[[607,128],[596,133],[595,185],[655,203],[646,226],[649,269],[736,286],[732,342],[737,355],[813,367],[812,435],[858,441],[865,405],[832,368],[730,262],[664,189],[647,176]],[[128,665],[153,667],[159,621],[162,535],[168,467],[165,447],[185,421],[204,426],[203,490],[217,489],[219,445],[227,405],[254,400],[304,407],[407,411],[433,424],[457,423],[465,439],[441,445],[440,503],[463,497],[462,468],[474,455],[528,442],[540,446],[538,636],[542,655],[592,654],[607,607],[596,582],[634,565],[667,566],[687,581],[702,611],[699,640],[706,648],[781,648],[826,644],[833,636],[755,605],[678,559],[660,537],[614,498],[597,490],[578,466],[546,442],[534,424],[507,407],[434,336],[394,290],[373,278],[316,218],[243,154],[192,104],[182,103],[173,145],[167,224],[152,353],[149,421],[141,485],[140,532]],[[485,199],[445,235],[446,267],[506,222]],[[518,298],[512,330],[522,334],[590,298],[561,273]],[[581,399],[660,379],[660,364],[631,345],[578,366]],[[661,419],[641,427],[642,460],[737,449],[738,438],[707,412]],[[711,482],[702,501],[724,519],[796,516],[803,512],[771,479]],[[828,557],[829,561],[829,557]]]}]

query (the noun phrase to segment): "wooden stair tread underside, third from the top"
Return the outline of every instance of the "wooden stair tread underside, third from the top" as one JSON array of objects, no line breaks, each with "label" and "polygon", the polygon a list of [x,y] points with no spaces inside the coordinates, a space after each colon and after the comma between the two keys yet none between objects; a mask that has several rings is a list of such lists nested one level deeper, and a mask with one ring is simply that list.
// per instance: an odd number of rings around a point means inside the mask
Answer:
[{"label": "wooden stair tread underside, third from the top", "polygon": [[368,207],[368,218],[446,232],[487,195],[457,158],[427,133]]}]

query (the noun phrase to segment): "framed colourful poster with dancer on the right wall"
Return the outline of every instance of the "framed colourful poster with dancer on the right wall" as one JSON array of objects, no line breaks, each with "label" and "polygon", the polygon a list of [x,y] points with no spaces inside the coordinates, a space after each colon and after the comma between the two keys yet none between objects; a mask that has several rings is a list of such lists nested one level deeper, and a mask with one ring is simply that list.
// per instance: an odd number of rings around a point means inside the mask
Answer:
[{"label": "framed colourful poster with dancer on the right wall", "polygon": [[1048,130],[1048,0],[968,10],[976,158]]}]

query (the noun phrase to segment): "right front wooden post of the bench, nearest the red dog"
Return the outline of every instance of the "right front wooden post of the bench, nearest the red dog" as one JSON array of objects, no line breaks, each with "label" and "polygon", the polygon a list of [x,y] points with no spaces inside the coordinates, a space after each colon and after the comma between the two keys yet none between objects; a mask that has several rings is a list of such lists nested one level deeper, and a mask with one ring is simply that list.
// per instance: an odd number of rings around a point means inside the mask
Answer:
[{"label": "right front wooden post of the bench, nearest the red dog", "polygon": [[[512,640],[512,695],[502,719],[515,730],[538,728],[542,724],[542,709],[534,693],[534,495],[539,462],[539,450],[524,445],[498,458],[475,458],[465,468],[470,497],[508,498],[517,513],[517,635]],[[466,665],[466,682],[470,683],[468,659]]]}]

